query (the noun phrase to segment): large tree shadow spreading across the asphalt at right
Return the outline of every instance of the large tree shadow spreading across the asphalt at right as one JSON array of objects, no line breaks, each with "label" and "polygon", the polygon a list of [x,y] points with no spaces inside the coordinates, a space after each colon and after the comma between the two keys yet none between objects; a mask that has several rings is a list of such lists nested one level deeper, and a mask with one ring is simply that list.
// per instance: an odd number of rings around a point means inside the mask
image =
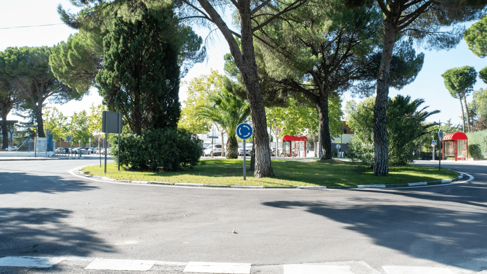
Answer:
[{"label": "large tree shadow spreading across the asphalt at right", "polygon": [[[346,224],[346,229],[370,237],[376,245],[403,254],[473,271],[486,269],[487,209],[486,204],[479,204],[486,201],[486,189],[480,189],[475,196],[425,192],[380,192],[384,196],[361,193],[340,202],[281,200],[262,204],[282,209],[302,208]],[[410,198],[401,199],[398,205],[398,199],[388,194]]]}]

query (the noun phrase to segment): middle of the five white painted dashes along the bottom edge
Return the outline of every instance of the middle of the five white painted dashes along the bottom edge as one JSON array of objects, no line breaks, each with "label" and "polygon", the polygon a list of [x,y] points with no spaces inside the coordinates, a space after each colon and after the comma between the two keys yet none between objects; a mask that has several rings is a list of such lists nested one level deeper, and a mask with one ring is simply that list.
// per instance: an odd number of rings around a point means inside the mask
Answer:
[{"label": "middle of the five white painted dashes along the bottom edge", "polygon": [[188,262],[183,272],[250,274],[252,264]]}]

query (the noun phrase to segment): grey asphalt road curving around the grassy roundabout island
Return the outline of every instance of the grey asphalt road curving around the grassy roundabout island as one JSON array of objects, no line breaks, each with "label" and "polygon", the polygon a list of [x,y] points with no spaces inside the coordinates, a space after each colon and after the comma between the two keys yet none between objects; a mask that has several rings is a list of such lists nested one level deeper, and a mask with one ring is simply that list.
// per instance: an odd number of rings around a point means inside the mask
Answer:
[{"label": "grey asphalt road curving around the grassy roundabout island", "polygon": [[[442,162],[474,179],[388,190],[192,188],[68,173],[98,162],[0,161],[0,256],[242,262],[256,265],[252,273],[331,262],[356,274],[391,265],[487,269],[486,165]],[[0,273],[132,273],[84,266],[0,266]]]}]

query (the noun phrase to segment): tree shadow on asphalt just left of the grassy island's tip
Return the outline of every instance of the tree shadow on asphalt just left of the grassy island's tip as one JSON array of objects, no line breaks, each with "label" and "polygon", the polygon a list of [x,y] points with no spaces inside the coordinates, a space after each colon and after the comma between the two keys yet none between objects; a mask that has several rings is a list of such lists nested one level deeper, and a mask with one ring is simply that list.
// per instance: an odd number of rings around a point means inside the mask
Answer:
[{"label": "tree shadow on asphalt just left of the grassy island's tip", "polygon": [[1,172],[0,195],[20,192],[63,193],[72,191],[89,191],[98,189],[74,177],[65,178],[59,173]]}]

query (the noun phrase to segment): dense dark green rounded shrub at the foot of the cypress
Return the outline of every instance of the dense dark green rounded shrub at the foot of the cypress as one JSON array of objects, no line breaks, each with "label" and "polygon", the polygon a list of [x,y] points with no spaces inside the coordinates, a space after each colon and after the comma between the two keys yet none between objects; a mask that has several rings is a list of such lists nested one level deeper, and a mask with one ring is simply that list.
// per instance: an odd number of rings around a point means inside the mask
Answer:
[{"label": "dense dark green rounded shrub at the foot of the cypress", "polygon": [[[112,157],[117,161],[116,138]],[[120,137],[120,164],[131,169],[178,171],[192,169],[201,156],[200,139],[185,129],[155,129],[141,136],[134,133]]]}]

